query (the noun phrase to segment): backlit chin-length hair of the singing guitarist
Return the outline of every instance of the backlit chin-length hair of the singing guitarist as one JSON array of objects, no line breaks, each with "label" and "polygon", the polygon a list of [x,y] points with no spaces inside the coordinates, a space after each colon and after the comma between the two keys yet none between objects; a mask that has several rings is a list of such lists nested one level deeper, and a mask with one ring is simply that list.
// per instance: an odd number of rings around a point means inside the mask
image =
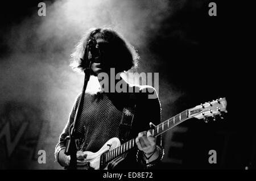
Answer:
[{"label": "backlit chin-length hair of the singing guitarist", "polygon": [[90,39],[103,39],[109,44],[109,54],[111,54],[112,68],[118,69],[119,72],[136,68],[139,56],[137,50],[129,44],[121,35],[110,28],[92,28],[82,36],[76,45],[74,52],[71,54],[71,67],[77,72],[84,70],[84,54],[86,44]]}]

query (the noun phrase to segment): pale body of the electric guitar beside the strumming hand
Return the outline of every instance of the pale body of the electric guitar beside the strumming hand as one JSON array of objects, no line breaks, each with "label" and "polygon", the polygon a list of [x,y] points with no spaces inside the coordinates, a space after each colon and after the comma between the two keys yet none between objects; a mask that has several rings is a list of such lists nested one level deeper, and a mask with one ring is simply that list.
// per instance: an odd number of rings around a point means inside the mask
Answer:
[{"label": "pale body of the electric guitar beside the strumming hand", "polygon": [[[111,138],[96,153],[93,153],[92,151],[84,151],[83,153],[84,153],[84,155],[86,155],[86,158],[84,161],[90,162],[90,165],[89,165],[90,168],[92,168],[94,170],[99,170],[100,169],[100,156],[103,153],[111,151],[120,145],[121,145],[121,142],[118,138],[116,138],[116,137]],[[104,170],[106,170],[107,168],[108,168],[108,165],[105,167]]]}]

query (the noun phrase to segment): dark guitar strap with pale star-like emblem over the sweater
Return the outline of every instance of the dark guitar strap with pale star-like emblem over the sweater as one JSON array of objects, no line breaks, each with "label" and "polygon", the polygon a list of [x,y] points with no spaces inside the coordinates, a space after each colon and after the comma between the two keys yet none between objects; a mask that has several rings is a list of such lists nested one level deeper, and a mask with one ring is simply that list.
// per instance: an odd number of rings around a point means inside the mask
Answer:
[{"label": "dark guitar strap with pale star-like emblem over the sweater", "polygon": [[[134,94],[131,94],[130,99],[135,100],[134,96],[135,96]],[[131,102],[134,102],[134,101],[131,101]],[[121,144],[123,144],[123,142],[129,139],[131,129],[133,128],[132,126],[133,126],[135,108],[136,108],[135,103],[123,108],[121,122],[119,124],[119,140],[121,141]]]}]

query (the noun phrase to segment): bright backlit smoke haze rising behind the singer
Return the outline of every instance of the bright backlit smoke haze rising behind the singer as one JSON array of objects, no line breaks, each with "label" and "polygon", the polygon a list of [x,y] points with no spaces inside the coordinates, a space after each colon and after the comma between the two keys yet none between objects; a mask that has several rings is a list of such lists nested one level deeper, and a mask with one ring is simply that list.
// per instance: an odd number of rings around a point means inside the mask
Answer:
[{"label": "bright backlit smoke haze rising behind the singer", "polygon": [[[179,6],[172,6],[174,3]],[[38,123],[43,123],[43,129],[37,148],[47,153],[47,164],[40,165],[34,159],[28,169],[61,169],[53,164],[54,148],[82,89],[83,75],[69,67],[69,55],[81,35],[92,27],[114,28],[138,50],[139,71],[154,72],[159,61],[149,52],[147,43],[158,33],[164,18],[174,14],[183,3],[167,0],[46,2],[46,16],[38,16],[38,8],[32,16],[10,27],[5,34],[9,53],[0,62],[1,110],[10,101],[40,110]],[[88,86],[92,84],[90,81]],[[159,92],[164,107],[181,93],[172,92],[170,85],[162,85]]]}]

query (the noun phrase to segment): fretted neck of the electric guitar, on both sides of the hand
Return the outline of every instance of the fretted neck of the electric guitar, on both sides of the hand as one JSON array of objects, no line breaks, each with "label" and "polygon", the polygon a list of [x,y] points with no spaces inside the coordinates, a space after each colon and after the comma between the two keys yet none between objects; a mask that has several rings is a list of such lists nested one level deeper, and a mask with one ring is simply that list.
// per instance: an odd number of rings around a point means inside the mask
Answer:
[{"label": "fretted neck of the electric guitar, on both sides of the hand", "polygon": [[[175,127],[177,124],[182,123],[183,121],[189,119],[188,110],[185,110],[178,115],[171,117],[170,119],[160,123],[155,127],[155,129],[150,129],[149,132],[152,136],[159,136],[160,134],[168,131],[169,129]],[[126,151],[135,148],[137,145],[135,144],[135,139],[129,140],[124,144],[118,146],[117,148],[105,153],[106,162],[112,161],[114,158],[119,155],[125,153]]]}]

